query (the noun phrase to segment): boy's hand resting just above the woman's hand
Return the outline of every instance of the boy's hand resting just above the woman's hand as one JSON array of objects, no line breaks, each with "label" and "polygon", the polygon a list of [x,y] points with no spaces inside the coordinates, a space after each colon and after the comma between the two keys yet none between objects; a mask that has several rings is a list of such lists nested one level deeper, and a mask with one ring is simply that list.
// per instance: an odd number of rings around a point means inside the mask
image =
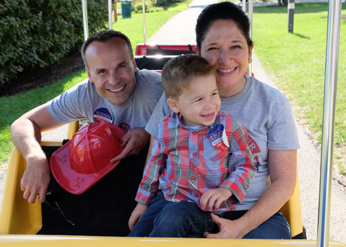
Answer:
[{"label": "boy's hand resting just above the woman's hand", "polygon": [[220,187],[218,189],[209,189],[200,197],[200,206],[203,209],[209,209],[213,211],[213,205],[215,204],[215,210],[218,210],[221,202],[227,200],[233,195],[231,191],[226,188]]}]

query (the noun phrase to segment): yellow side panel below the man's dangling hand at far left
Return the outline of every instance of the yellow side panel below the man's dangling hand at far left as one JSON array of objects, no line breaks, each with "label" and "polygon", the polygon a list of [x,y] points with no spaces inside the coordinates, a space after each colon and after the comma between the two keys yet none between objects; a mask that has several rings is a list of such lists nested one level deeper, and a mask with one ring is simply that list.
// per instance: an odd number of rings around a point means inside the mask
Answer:
[{"label": "yellow side panel below the man's dangling hand at far left", "polygon": [[2,234],[35,234],[42,227],[41,204],[30,204],[23,198],[21,178],[25,169],[25,159],[13,148],[0,213]]}]

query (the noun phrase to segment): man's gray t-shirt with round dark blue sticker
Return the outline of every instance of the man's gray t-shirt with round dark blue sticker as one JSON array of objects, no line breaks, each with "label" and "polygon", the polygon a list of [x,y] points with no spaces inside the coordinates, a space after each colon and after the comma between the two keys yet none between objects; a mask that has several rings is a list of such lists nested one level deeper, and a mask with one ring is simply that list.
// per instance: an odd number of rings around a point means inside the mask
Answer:
[{"label": "man's gray t-shirt with round dark blue sticker", "polygon": [[47,110],[61,124],[87,119],[108,121],[126,131],[144,128],[163,93],[161,74],[137,68],[136,80],[134,93],[122,106],[101,97],[95,84],[86,79],[48,102]]}]

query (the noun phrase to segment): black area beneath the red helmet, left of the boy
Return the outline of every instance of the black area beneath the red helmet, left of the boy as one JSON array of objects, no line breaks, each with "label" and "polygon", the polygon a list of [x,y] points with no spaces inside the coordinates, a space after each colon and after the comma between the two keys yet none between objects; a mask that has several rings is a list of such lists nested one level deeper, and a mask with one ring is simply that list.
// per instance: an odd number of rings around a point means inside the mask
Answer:
[{"label": "black area beneath the red helmet, left of the boy", "polygon": [[[48,157],[60,147],[43,147]],[[42,204],[43,227],[40,235],[126,236],[130,233],[128,220],[135,209],[135,196],[146,162],[148,149],[139,155],[124,158],[111,172],[90,189],[73,195],[62,189],[51,175],[48,191],[60,195],[56,201],[64,212]],[[50,202],[49,202],[50,203]],[[51,206],[56,207],[53,203]]]}]

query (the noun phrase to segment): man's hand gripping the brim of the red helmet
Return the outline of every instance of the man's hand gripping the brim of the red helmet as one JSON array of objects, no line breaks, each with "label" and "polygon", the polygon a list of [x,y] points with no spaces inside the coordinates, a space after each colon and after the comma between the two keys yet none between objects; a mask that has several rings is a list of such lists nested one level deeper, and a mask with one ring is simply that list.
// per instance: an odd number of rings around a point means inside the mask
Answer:
[{"label": "man's hand gripping the brim of the red helmet", "polygon": [[111,163],[120,161],[121,159],[132,154],[139,154],[144,148],[146,148],[149,141],[150,134],[146,132],[144,128],[128,130],[124,137],[122,137],[121,146],[124,147],[126,145],[125,149],[121,154],[115,158],[112,158]]}]

